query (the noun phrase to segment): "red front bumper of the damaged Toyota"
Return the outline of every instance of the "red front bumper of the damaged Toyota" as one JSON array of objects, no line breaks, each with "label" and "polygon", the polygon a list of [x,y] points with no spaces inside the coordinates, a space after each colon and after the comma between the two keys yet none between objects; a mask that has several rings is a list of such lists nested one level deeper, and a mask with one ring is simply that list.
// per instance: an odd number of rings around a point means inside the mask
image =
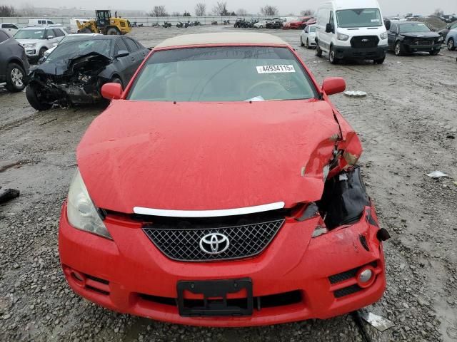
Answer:
[{"label": "red front bumper of the damaged Toyota", "polygon": [[[372,209],[367,210],[371,218],[376,218]],[[165,257],[138,222],[107,217],[105,224],[113,241],[74,229],[66,218],[64,204],[59,253],[71,289],[89,301],[121,313],[221,327],[331,318],[373,304],[386,287],[383,249],[376,238],[379,228],[370,224],[366,215],[350,227],[311,240],[317,219],[286,219],[273,242],[258,257],[191,263]],[[369,250],[363,247],[361,237]],[[353,291],[357,281],[353,275],[347,276],[348,271],[364,265],[373,265],[376,279],[371,286]],[[329,277],[333,275],[341,281],[331,281]],[[293,304],[254,309],[252,316],[179,315],[175,303],[178,281],[242,278],[252,279],[255,298],[295,291],[301,299]],[[233,294],[232,298],[239,296],[242,295]]]}]

